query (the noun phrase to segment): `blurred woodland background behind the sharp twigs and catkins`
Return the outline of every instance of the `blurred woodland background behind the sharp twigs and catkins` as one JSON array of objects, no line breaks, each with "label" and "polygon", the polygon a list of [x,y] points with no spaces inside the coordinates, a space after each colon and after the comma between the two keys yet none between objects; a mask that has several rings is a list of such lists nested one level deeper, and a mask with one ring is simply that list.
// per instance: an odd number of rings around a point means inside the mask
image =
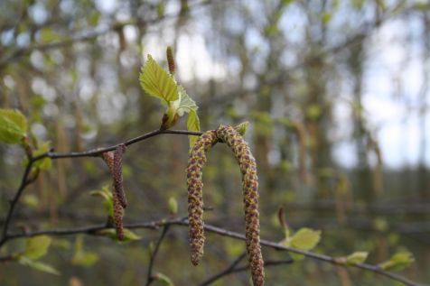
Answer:
[{"label": "blurred woodland background behind the sharp twigs and catkins", "polygon": [[[378,41],[387,27],[407,57],[403,66],[372,73],[369,66],[385,52]],[[175,51],[177,78],[200,106],[202,130],[250,122],[246,139],[258,164],[262,237],[284,238],[276,218],[283,206],[289,226],[322,230],[317,252],[369,251],[369,263],[379,263],[408,249],[416,263],[403,274],[430,281],[427,1],[3,0],[0,107],[19,108],[33,134],[51,141],[56,152],[123,142],[160,126],[164,107],[144,94],[138,75],[148,53],[165,67],[167,45]],[[402,88],[415,79],[406,68],[412,57],[422,63],[413,96]],[[402,153],[379,143],[383,127],[372,122],[363,98],[369,77],[372,90],[379,90],[379,78],[390,78],[394,91],[383,96],[405,107],[389,120],[416,116],[416,163],[384,163]],[[185,129],[184,120],[176,127]],[[409,136],[401,143],[413,141]],[[339,156],[345,144],[348,154]],[[186,136],[157,136],[127,149],[126,222],[169,217],[172,198],[178,215],[186,215],[187,156]],[[0,145],[1,214],[19,183],[22,161],[21,149]],[[242,232],[238,166],[221,145],[209,161],[204,196],[213,210],[207,222]],[[106,185],[108,169],[100,159],[52,161],[51,170],[26,189],[13,229],[103,223],[102,200],[89,192]],[[0,283],[142,285],[159,232],[136,233],[142,239],[128,244],[94,236],[55,238],[44,260],[60,276],[4,263]],[[187,242],[187,230],[173,227],[155,265],[175,285],[196,285],[245,250],[243,242],[208,234],[203,261],[193,267]],[[7,249],[22,244],[17,240]],[[264,251],[266,259],[286,255]],[[267,285],[393,285],[372,273],[309,259],[268,268],[266,276]],[[217,285],[249,285],[248,272]]]}]

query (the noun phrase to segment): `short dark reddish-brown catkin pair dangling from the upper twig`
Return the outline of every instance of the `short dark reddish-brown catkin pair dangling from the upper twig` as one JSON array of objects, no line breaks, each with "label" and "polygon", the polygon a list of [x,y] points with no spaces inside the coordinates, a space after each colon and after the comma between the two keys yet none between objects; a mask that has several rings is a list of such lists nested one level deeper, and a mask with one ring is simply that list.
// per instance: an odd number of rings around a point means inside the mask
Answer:
[{"label": "short dark reddish-brown catkin pair dangling from the upper twig", "polygon": [[125,145],[119,145],[115,152],[104,152],[102,157],[107,163],[113,179],[113,205],[114,205],[114,224],[119,240],[124,239],[123,217],[126,208],[126,196],[123,187],[122,176],[122,155],[126,151]]}]

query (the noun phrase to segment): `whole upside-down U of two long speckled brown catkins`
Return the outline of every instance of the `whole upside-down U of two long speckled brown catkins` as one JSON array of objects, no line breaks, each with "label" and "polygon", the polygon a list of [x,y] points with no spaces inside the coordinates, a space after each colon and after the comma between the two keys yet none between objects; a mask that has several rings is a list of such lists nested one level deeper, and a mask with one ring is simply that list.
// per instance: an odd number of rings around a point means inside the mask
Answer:
[{"label": "whole upside-down U of two long speckled brown catkins", "polygon": [[258,221],[258,180],[257,164],[248,144],[238,131],[231,126],[221,125],[216,131],[208,131],[196,141],[187,168],[190,244],[192,263],[199,263],[203,254],[203,201],[202,168],[206,162],[206,152],[217,142],[224,142],[234,152],[242,173],[242,190],[245,208],[248,261],[255,286],[264,285],[264,262],[261,254]]}]

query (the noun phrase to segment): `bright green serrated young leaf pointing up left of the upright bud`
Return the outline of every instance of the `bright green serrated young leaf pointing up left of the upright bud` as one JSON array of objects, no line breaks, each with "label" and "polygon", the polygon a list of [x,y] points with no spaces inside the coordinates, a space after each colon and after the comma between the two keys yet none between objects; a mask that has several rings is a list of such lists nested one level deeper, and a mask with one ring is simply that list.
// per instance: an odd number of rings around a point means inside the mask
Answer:
[{"label": "bright green serrated young leaf pointing up left of the upright bud", "polygon": [[150,96],[164,99],[166,103],[179,98],[178,86],[173,77],[160,67],[151,55],[148,55],[139,80],[142,88]]}]

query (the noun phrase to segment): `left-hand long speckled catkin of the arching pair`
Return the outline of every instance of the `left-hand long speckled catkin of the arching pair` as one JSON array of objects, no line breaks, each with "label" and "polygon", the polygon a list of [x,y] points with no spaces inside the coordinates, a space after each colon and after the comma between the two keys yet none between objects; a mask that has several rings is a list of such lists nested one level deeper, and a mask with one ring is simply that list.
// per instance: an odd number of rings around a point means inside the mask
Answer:
[{"label": "left-hand long speckled catkin of the arching pair", "polygon": [[217,143],[214,130],[202,134],[194,143],[187,167],[188,220],[190,222],[190,245],[192,264],[197,265],[203,255],[203,198],[202,169],[206,162],[206,152]]}]

